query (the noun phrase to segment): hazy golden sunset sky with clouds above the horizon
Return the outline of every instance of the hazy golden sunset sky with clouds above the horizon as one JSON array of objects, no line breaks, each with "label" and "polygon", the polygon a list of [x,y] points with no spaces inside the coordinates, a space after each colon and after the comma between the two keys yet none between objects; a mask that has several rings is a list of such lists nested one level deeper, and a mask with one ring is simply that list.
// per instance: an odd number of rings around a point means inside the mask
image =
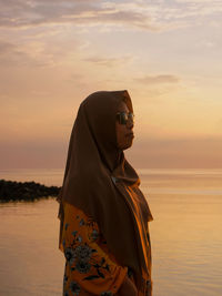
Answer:
[{"label": "hazy golden sunset sky with clouds above the horizon", "polygon": [[0,169],[63,169],[99,90],[132,98],[135,167],[222,167],[221,47],[221,0],[0,0]]}]

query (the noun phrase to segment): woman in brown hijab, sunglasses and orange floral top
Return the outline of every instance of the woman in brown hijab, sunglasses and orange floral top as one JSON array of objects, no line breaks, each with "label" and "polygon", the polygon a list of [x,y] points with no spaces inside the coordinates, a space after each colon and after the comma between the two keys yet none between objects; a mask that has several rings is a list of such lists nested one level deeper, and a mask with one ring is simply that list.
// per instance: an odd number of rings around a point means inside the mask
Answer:
[{"label": "woman in brown hijab, sunglasses and orange floral top", "polygon": [[80,104],[58,196],[65,296],[152,295],[153,218],[124,157],[132,141],[128,91],[95,92]]}]

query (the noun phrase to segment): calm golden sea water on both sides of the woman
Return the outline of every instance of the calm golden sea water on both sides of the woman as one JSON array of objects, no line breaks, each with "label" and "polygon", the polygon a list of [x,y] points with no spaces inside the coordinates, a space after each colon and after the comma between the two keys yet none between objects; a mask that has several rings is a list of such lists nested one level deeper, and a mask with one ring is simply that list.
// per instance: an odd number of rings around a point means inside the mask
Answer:
[{"label": "calm golden sea water on both sides of the woman", "polygon": [[[150,223],[153,296],[222,295],[222,170],[139,170]],[[0,178],[61,185],[61,170],[0,171]],[[0,204],[0,295],[61,295],[58,203]]]}]

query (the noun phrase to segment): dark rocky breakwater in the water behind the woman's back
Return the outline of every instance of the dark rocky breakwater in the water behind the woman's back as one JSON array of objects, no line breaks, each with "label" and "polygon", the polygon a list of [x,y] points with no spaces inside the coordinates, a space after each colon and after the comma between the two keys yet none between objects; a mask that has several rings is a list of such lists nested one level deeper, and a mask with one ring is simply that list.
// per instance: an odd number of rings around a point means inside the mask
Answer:
[{"label": "dark rocky breakwater in the water behind the woman's back", "polygon": [[0,180],[0,202],[34,201],[58,196],[61,187],[44,186],[36,182],[16,182]]}]

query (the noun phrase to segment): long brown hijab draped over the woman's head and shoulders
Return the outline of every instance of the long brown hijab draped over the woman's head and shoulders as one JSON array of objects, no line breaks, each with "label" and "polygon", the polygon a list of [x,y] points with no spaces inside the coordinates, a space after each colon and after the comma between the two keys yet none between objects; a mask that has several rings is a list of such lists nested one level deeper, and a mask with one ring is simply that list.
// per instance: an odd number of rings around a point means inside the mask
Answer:
[{"label": "long brown hijab draped over the woman's head and shoulders", "polygon": [[63,202],[68,202],[97,221],[109,249],[134,272],[142,289],[142,275],[151,273],[147,231],[153,218],[140,178],[118,147],[115,121],[122,101],[133,112],[128,91],[94,92],[80,104],[58,196],[59,247],[63,251]]}]

